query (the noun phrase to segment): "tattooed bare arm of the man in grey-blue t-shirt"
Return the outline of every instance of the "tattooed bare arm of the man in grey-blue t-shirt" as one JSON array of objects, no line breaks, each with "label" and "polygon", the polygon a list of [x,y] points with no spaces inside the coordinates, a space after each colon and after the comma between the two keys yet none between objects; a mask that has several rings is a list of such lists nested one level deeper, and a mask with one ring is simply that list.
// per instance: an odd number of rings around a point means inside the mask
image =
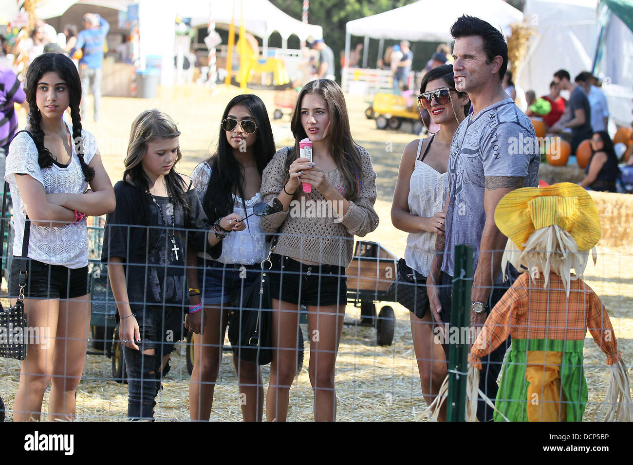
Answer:
[{"label": "tattooed bare arm of the man in grey-blue t-shirt", "polygon": [[[473,302],[484,302],[484,304],[487,304],[494,278],[499,274],[501,257],[508,241],[508,238],[499,231],[499,228],[494,223],[494,209],[497,208],[501,197],[508,194],[511,190],[523,187],[524,183],[524,177],[486,177],[486,192],[484,194],[486,224],[481,235],[479,261],[477,261],[475,276],[473,276],[471,292]],[[485,313],[477,316],[480,321],[476,321],[476,318],[475,323],[483,324],[486,321]]]}]

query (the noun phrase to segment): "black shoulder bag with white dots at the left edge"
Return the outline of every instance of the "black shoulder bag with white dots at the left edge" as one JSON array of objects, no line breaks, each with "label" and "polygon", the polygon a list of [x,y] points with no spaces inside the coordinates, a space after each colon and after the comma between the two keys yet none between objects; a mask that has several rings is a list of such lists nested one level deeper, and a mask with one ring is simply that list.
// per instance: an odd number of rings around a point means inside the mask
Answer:
[{"label": "black shoulder bag with white dots at the left edge", "polygon": [[[4,277],[2,252],[4,251],[4,225],[6,218],[6,193],[8,183],[4,182],[4,194],[2,201],[2,218],[0,218],[0,280]],[[27,317],[24,313],[24,288],[27,287],[27,261],[28,261],[28,238],[31,231],[31,221],[26,216],[24,221],[24,234],[22,235],[22,257],[20,259],[20,276],[18,285],[20,295],[15,305],[4,310],[0,304],[0,328],[4,330],[6,337],[0,337],[0,357],[8,359],[24,360],[27,356]],[[11,245],[7,244],[7,254],[11,253]],[[20,330],[22,328],[22,334]]]}]

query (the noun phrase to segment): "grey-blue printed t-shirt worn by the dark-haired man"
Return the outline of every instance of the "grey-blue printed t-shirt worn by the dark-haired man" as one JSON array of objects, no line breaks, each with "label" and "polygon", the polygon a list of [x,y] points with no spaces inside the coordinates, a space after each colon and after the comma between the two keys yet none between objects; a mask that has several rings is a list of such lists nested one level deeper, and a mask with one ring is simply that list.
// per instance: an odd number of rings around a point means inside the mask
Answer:
[{"label": "grey-blue printed t-shirt worn by the dark-haired man", "polygon": [[[454,246],[473,248],[473,274],[486,223],[486,177],[525,177],[525,187],[539,185],[541,156],[530,119],[511,99],[493,104],[461,121],[448,161],[449,203],[446,252],[442,271],[454,276]],[[495,283],[503,281],[499,273]]]}]

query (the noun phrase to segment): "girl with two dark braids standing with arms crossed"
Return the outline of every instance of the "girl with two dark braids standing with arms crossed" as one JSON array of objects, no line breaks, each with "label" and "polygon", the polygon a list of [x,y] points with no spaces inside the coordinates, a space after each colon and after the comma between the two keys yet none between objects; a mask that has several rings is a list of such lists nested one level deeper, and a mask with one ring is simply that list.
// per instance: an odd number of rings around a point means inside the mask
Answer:
[{"label": "girl with two dark braids standing with arms crossed", "polygon": [[[82,129],[81,84],[72,60],[53,53],[35,58],[26,87],[30,123],[15,135],[6,159],[15,221],[9,295],[13,304],[20,294],[26,213],[31,226],[25,309],[28,326],[40,334],[29,341],[22,362],[13,418],[39,419],[52,381],[49,419],[72,419],[90,323],[85,216],[113,211],[115,195],[97,141]],[[69,106],[72,125],[62,120]]]}]

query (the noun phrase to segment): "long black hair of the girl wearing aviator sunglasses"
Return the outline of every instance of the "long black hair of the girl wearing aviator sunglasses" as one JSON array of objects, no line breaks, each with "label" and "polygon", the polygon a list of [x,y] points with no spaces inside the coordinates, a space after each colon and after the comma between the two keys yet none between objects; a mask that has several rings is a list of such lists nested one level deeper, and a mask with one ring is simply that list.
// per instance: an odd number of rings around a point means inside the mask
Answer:
[{"label": "long black hair of the girl wearing aviator sunglasses", "polygon": [[[229,111],[235,105],[246,106],[251,115],[253,115],[257,125],[253,155],[257,164],[257,170],[261,175],[275,154],[275,140],[273,139],[266,106],[260,97],[253,94],[233,97],[224,109],[222,120],[229,115]],[[220,126],[218,149],[207,160],[207,163],[211,167],[211,177],[206,186],[203,199],[203,209],[207,218],[214,222],[221,216],[233,213],[234,193],[240,196],[244,210],[246,210],[247,199],[244,199],[244,170],[233,156],[233,147],[230,146],[227,140],[227,133],[222,126]]]}]

